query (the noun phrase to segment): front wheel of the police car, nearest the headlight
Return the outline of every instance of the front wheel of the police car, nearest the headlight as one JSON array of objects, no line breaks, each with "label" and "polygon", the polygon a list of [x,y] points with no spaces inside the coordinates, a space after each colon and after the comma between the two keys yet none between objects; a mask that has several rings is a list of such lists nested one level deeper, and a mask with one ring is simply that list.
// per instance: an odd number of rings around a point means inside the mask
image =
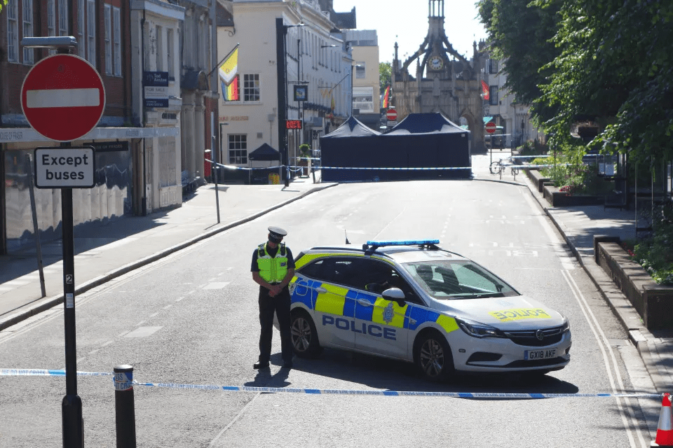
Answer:
[{"label": "front wheel of the police car, nearest the headlight", "polygon": [[423,377],[430,381],[446,381],[454,373],[454,358],[444,336],[437,331],[426,332],[416,341],[414,358]]}]

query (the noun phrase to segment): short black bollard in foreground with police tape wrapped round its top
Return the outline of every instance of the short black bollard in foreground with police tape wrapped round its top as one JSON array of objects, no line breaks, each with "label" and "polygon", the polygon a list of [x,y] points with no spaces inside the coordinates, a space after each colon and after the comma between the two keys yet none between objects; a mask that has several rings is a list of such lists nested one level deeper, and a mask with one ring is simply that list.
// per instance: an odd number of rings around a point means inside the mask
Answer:
[{"label": "short black bollard in foreground with police tape wrapped round its top", "polygon": [[136,448],[132,381],[132,366],[118,365],[114,367],[114,416],[117,448]]}]

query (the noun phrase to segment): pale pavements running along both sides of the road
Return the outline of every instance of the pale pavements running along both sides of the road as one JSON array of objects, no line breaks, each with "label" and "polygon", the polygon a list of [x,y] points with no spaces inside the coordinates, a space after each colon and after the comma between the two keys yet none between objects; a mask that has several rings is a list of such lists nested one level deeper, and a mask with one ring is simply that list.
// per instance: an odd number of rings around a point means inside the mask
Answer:
[{"label": "pale pavements running along both sides of the road", "polygon": [[[651,332],[645,328],[634,307],[594,262],[594,235],[623,240],[635,237],[634,211],[604,209],[602,205],[550,207],[522,172],[516,176],[510,170],[501,175],[490,174],[491,160],[509,155],[509,151],[473,155],[475,181],[515,183],[530,190],[629,333],[657,392],[673,392],[673,331]],[[77,229],[74,235],[75,295],[301,197],[338,185],[322,183],[320,172],[315,174],[315,183],[312,176],[298,177],[288,187],[220,185],[216,192],[213,184],[207,184],[185,197],[182,207],[147,216],[123,216],[104,225]],[[41,245],[45,295],[36,252],[36,248],[27,248],[0,255],[2,332],[12,332],[21,326],[16,324],[27,319],[39,319],[41,311],[63,302],[61,241]]]}]

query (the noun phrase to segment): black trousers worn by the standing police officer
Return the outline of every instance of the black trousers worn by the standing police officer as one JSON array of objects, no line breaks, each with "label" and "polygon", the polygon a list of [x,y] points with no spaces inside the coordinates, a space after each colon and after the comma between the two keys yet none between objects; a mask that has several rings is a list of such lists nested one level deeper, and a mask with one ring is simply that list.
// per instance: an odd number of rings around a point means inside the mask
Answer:
[{"label": "black trousers worn by the standing police officer", "polygon": [[271,357],[271,340],[273,338],[273,313],[278,316],[280,325],[280,349],[283,362],[292,361],[292,337],[290,335],[290,290],[285,286],[274,297],[268,295],[268,289],[259,288],[259,362],[267,364]]}]

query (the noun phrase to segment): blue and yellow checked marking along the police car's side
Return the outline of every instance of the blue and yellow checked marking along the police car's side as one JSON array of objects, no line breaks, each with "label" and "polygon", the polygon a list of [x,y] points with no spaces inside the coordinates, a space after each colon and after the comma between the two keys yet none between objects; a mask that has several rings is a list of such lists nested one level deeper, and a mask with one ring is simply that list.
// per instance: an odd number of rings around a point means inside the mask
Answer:
[{"label": "blue and yellow checked marking along the police car's side", "polygon": [[[318,288],[325,289],[325,293],[318,293]],[[294,276],[290,283],[290,291],[293,303],[301,303],[308,309],[329,314],[329,316],[323,316],[322,325],[334,325],[339,330],[367,333],[386,339],[395,339],[395,328],[414,331],[426,322],[436,323],[447,333],[458,330],[458,324],[454,318],[437,311],[414,304],[405,304],[400,307],[396,302],[391,302],[378,295],[362,293],[321,281]],[[367,300],[373,306],[363,306],[358,303],[358,300]],[[355,323],[355,319],[361,323]],[[386,327],[370,325],[367,322],[386,325]]]}]

